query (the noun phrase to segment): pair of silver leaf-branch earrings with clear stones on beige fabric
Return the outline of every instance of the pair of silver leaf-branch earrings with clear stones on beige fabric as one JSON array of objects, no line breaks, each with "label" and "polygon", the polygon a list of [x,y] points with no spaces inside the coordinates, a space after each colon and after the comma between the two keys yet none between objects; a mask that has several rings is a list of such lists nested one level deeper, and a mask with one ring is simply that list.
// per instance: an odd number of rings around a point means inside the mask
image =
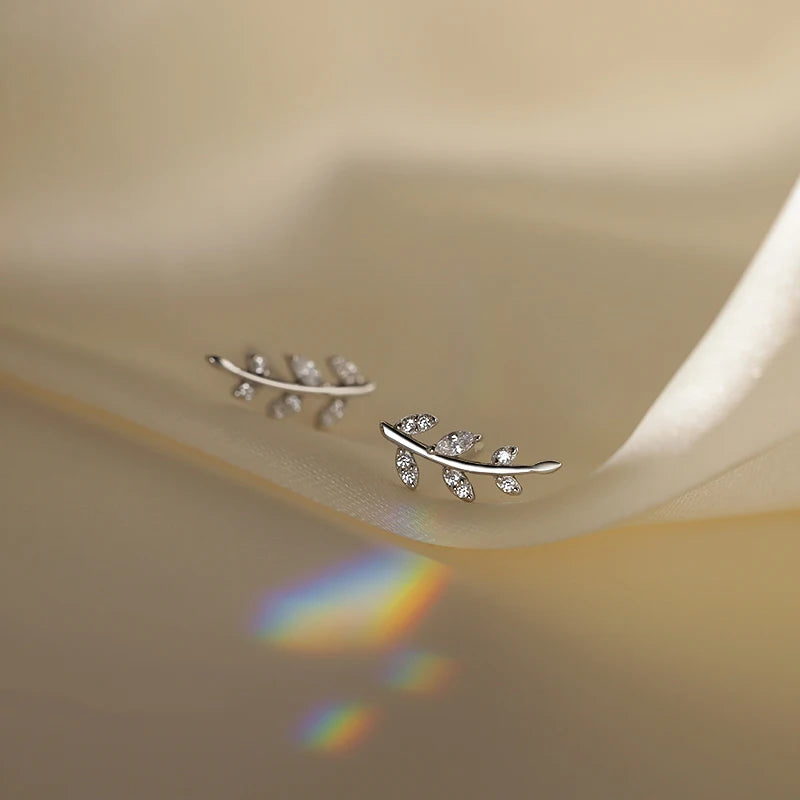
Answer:
[{"label": "pair of silver leaf-branch earrings with clear stones on beige fabric", "polygon": [[[295,414],[303,407],[304,395],[317,395],[325,403],[317,414],[317,427],[327,429],[343,416],[347,401],[352,397],[371,394],[377,386],[361,374],[359,368],[344,356],[330,356],[328,366],[335,378],[325,380],[320,368],[309,358],[290,355],[286,358],[292,378],[284,380],[272,374],[267,359],[260,353],[250,353],[244,367],[239,367],[222,356],[207,356],[214,367],[235,375],[239,382],[233,396],[251,401],[259,387],[277,389],[280,394],[267,405],[267,413],[275,419]],[[397,446],[395,468],[403,484],[416,489],[419,483],[419,465],[415,456],[432,461],[442,467],[442,478],[447,488],[459,499],[471,503],[475,490],[468,474],[490,475],[497,488],[506,495],[518,495],[522,486],[517,475],[531,472],[547,474],[561,467],[560,461],[540,461],[532,465],[515,465],[518,448],[514,445],[499,447],[488,462],[462,458],[468,451],[480,446],[483,437],[467,430],[451,431],[434,445],[426,445],[414,438],[433,428],[439,420],[433,414],[412,414],[394,425],[380,423],[383,436]]]}]

